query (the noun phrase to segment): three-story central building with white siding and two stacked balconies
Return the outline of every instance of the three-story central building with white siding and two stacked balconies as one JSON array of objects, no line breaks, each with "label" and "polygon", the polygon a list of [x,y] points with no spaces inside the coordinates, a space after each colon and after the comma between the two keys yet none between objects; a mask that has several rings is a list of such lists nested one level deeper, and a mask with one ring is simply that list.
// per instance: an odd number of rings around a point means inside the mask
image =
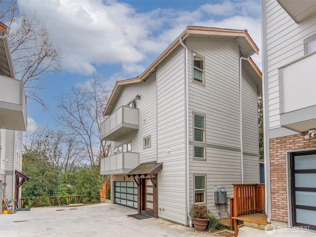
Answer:
[{"label": "three-story central building with white siding and two stacked balconies", "polygon": [[233,197],[233,183],[259,182],[255,53],[247,31],[190,26],[140,76],[116,83],[101,126],[113,203],[184,225],[195,203],[229,217],[214,191]]}]

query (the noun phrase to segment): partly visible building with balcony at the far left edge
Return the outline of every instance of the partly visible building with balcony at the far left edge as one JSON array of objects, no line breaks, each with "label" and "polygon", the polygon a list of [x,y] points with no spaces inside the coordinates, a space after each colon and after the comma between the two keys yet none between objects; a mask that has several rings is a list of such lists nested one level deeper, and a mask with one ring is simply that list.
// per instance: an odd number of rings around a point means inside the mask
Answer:
[{"label": "partly visible building with balcony at the far left edge", "polygon": [[28,179],[22,171],[22,131],[27,111],[23,81],[15,79],[7,28],[0,22],[0,197],[18,200],[21,184]]}]

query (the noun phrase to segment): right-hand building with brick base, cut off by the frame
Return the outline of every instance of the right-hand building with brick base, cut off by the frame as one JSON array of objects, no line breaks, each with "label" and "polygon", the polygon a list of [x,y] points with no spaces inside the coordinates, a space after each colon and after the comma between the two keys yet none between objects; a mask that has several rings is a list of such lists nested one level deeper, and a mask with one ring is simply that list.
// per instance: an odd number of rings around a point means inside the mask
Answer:
[{"label": "right-hand building with brick base, cut off by the frame", "polygon": [[316,230],[316,1],[262,1],[266,213]]}]

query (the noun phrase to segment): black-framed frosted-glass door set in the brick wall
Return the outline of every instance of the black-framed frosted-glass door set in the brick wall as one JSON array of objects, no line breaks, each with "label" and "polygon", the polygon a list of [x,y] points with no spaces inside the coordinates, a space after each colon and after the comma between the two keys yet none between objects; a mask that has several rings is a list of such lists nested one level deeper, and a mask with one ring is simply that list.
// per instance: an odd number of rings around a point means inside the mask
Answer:
[{"label": "black-framed frosted-glass door set in the brick wall", "polygon": [[316,151],[291,153],[293,226],[316,230]]}]

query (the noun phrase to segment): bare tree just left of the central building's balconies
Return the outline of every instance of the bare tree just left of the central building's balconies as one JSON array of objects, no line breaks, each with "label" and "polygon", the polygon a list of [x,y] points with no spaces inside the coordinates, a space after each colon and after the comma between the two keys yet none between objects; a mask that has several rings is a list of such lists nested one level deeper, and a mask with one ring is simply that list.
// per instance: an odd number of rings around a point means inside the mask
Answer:
[{"label": "bare tree just left of the central building's balconies", "polygon": [[92,169],[97,169],[100,158],[109,154],[110,143],[100,142],[102,112],[109,95],[100,85],[99,77],[94,75],[85,85],[73,87],[70,93],[57,98],[61,113],[56,121],[68,135],[75,136],[76,141],[84,145]]}]

